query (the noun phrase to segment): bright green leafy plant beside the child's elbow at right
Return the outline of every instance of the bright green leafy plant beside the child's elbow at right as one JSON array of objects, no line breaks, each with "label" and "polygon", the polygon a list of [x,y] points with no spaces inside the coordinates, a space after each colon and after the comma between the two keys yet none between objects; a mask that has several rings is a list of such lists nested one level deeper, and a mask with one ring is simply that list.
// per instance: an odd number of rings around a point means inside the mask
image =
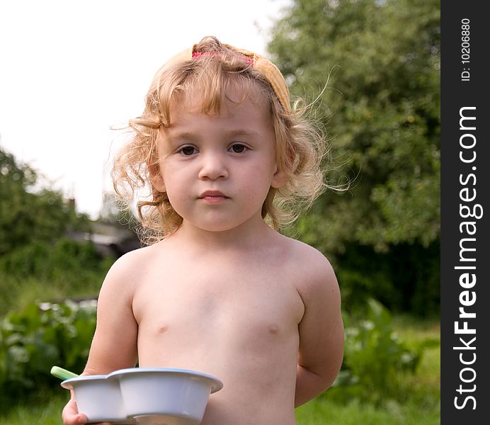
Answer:
[{"label": "bright green leafy plant beside the child's elbow at right", "polygon": [[344,314],[344,321],[344,361],[329,395],[375,404],[402,396],[403,378],[415,373],[423,346],[407,348],[394,332],[388,310],[374,299],[368,300],[365,319],[350,324]]}]

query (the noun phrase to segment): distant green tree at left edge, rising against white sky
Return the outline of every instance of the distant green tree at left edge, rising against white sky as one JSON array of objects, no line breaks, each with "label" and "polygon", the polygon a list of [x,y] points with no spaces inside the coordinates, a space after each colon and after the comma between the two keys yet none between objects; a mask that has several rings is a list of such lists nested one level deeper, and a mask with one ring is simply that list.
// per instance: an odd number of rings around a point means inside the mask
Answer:
[{"label": "distant green tree at left edge, rising against white sky", "polygon": [[38,188],[39,176],[0,148],[0,256],[32,242],[54,242],[69,229],[89,229],[62,194]]}]

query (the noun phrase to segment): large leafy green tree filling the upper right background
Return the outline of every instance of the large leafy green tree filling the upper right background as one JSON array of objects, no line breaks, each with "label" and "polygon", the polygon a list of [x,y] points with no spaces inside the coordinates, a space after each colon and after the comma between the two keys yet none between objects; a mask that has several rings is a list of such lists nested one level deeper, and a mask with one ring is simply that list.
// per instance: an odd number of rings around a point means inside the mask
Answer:
[{"label": "large leafy green tree filling the upper right background", "polygon": [[326,86],[314,112],[331,137],[329,181],[353,180],[300,220],[301,237],[330,254],[437,241],[439,1],[295,0],[268,48],[292,94]]}]

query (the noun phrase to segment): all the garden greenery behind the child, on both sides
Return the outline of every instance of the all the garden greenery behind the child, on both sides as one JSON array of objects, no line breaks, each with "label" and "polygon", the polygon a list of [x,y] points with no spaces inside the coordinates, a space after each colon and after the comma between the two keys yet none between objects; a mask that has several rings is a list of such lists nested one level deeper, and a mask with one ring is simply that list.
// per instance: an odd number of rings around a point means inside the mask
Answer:
[{"label": "all the garden greenery behind the child, on both sides", "polygon": [[[440,423],[439,10],[295,0],[273,27],[271,59],[329,138],[329,183],[350,182],[287,229],[333,263],[346,324],[341,373],[298,424]],[[89,220],[0,146],[1,424],[60,423],[50,368],[84,368],[117,257],[74,235],[120,219]]]}]

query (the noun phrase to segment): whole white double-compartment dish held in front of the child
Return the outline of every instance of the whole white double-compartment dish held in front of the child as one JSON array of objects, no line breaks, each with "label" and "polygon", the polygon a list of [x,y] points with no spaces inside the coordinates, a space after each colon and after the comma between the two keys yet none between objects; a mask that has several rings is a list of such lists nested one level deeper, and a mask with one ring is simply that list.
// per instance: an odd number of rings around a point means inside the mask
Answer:
[{"label": "whole white double-compartment dish held in front of the child", "polygon": [[79,412],[89,423],[197,425],[210,395],[223,384],[195,370],[131,368],[81,375],[61,386],[73,389]]}]

